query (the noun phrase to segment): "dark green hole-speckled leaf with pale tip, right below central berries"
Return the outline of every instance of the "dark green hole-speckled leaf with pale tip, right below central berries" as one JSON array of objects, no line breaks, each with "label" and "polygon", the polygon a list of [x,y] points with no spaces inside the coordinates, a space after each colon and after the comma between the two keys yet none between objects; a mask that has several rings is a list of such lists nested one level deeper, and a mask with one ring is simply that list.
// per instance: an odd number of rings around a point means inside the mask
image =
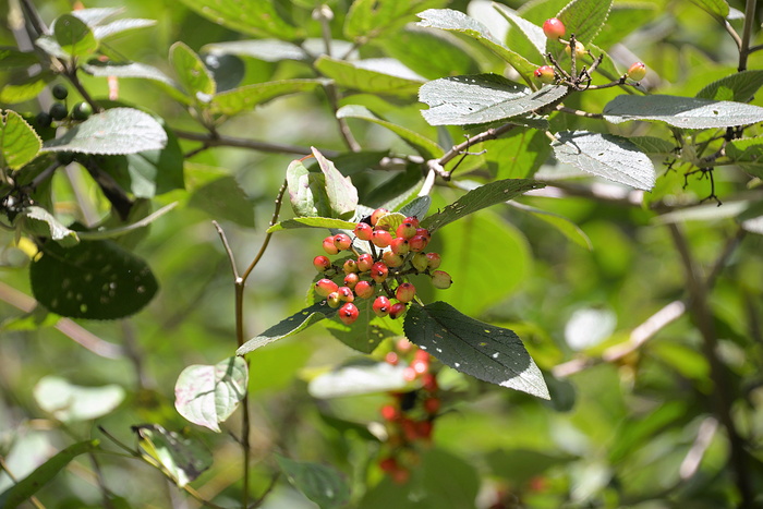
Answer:
[{"label": "dark green hole-speckled leaf with pale tip, right below central berries", "polygon": [[475,320],[445,302],[411,306],[403,327],[408,339],[456,371],[550,399],[541,369],[509,329]]}]

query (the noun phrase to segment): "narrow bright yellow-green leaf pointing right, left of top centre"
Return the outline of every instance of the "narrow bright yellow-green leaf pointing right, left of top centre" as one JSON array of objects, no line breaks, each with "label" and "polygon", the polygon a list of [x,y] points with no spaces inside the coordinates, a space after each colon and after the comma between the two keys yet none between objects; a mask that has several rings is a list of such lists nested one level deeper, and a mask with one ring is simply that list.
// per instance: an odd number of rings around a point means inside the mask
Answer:
[{"label": "narrow bright yellow-green leaf pointing right, left of top centre", "polygon": [[213,111],[227,116],[250,111],[277,97],[300,92],[311,92],[324,84],[322,80],[281,80],[255,83],[217,94],[211,102]]}]

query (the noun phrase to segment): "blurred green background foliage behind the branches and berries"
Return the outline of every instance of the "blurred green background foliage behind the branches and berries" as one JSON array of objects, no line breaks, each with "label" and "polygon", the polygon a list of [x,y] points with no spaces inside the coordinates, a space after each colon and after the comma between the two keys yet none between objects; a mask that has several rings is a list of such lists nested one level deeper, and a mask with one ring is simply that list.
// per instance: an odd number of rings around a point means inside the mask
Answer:
[{"label": "blurred green background foliage behind the branches and berries", "polygon": [[[38,3],[50,23],[74,4],[62,0]],[[311,19],[311,0],[278,0],[310,36],[320,26]],[[335,13],[332,34],[342,38],[342,17],[349,1],[326,2]],[[443,2],[445,3],[445,2]],[[451,9],[477,12],[486,2],[453,1]],[[502,2],[521,8],[524,2]],[[559,3],[559,2],[557,2]],[[561,2],[562,4],[565,2]],[[641,60],[650,74],[652,92],[693,96],[707,83],[735,72],[734,43],[711,16],[690,1],[641,1],[643,9],[622,23],[615,2],[616,27],[630,32],[600,37],[618,40],[609,48],[619,61]],[[743,9],[741,1],[729,4]],[[14,1],[0,5],[8,20]],[[87,8],[124,7],[130,17],[157,20],[155,27],[129,33],[114,46],[126,58],[171,73],[169,47],[182,40],[199,51],[205,45],[238,40],[238,32],[217,25],[181,2],[168,0],[90,0]],[[759,13],[760,14],[760,13]],[[489,20],[488,20],[489,21]],[[614,23],[614,21],[613,21]],[[760,20],[759,23],[760,24]],[[760,33],[760,32],[758,32]],[[363,46],[364,58],[391,56],[427,78],[444,72],[436,59],[415,54],[398,34],[387,34]],[[753,44],[761,44],[759,36]],[[14,46],[12,33],[0,27],[0,45]],[[511,47],[511,39],[508,41]],[[410,54],[407,54],[410,53]],[[761,52],[749,68],[762,69]],[[311,77],[300,62],[266,62],[243,58],[242,84],[276,78]],[[420,65],[414,68],[414,65]],[[498,71],[495,61],[464,58],[455,73]],[[2,78],[0,77],[0,81]],[[94,97],[108,96],[106,80],[85,78]],[[620,92],[616,88],[581,94],[569,104],[601,111]],[[72,94],[75,94],[72,90]],[[120,100],[154,111],[177,130],[198,131],[196,121],[179,102],[143,81],[119,82]],[[377,114],[437,140],[415,97],[348,93],[341,104],[364,105]],[[763,106],[759,95],[753,104]],[[16,109],[38,111],[35,102]],[[555,128],[602,129],[578,118],[555,118]],[[367,149],[410,154],[411,149],[374,124],[350,120],[350,126]],[[654,125],[618,125],[613,130],[641,130],[669,136]],[[223,134],[322,150],[346,150],[325,95],[298,94],[275,100],[239,116],[220,130]],[[463,131],[448,129],[457,143]],[[439,133],[443,134],[441,132]],[[196,143],[183,141],[184,152]],[[479,150],[481,147],[475,147]],[[491,148],[486,146],[486,148]],[[81,322],[101,342],[117,344],[116,354],[97,354],[53,328],[44,313],[24,314],[19,296],[3,290],[0,300],[0,457],[17,475],[29,472],[40,459],[73,439],[102,435],[95,424],[126,444],[133,444],[131,425],[158,423],[168,429],[186,429],[214,453],[213,468],[193,486],[220,505],[238,499],[240,449],[226,434],[205,433],[177,414],[173,385],[191,364],[213,364],[235,348],[233,284],[226,253],[210,221],[217,219],[231,241],[237,259],[249,263],[259,247],[272,214],[274,198],[293,154],[216,147],[185,161],[185,191],[155,199],[155,208],[179,201],[181,206],[150,228],[136,253],[150,264],[160,283],[157,298],[143,312],[119,322]],[[474,168],[491,168],[492,154]],[[476,159],[476,158],[475,158]],[[494,161],[495,162],[495,161]],[[341,162],[337,162],[343,171]],[[499,166],[498,172],[506,171]],[[565,168],[547,160],[540,174],[556,179]],[[361,202],[377,206],[380,183],[399,177],[361,169],[352,174]],[[230,175],[243,193],[223,191],[206,197],[194,193],[210,175]],[[504,177],[523,177],[505,174]],[[480,173],[473,177],[480,178]],[[58,179],[58,178],[57,178]],[[747,177],[735,168],[715,172],[716,193],[734,202],[744,193]],[[444,263],[456,284],[438,291],[470,316],[516,330],[544,372],[552,401],[501,389],[450,374],[444,411],[436,421],[434,446],[423,453],[414,476],[431,495],[412,498],[409,487],[385,478],[375,466],[380,444],[370,435],[368,423],[378,422],[384,395],[318,400],[310,396],[307,380],[315,373],[358,356],[336,341],[322,326],[270,344],[251,354],[254,472],[253,490],[263,493],[274,472],[274,450],[295,458],[330,463],[351,480],[353,505],[364,508],[558,508],[629,507],[719,508],[734,507],[739,494],[729,468],[729,443],[714,416],[716,384],[702,350],[702,339],[688,313],[662,328],[656,336],[614,362],[602,354],[626,343],[634,328],[674,301],[687,299],[686,276],[668,228],[657,214],[629,203],[627,192],[603,198],[590,192],[574,196],[526,196],[519,202],[559,214],[580,231],[565,237],[543,216],[512,207],[494,207],[456,222],[437,238]],[[707,181],[694,178],[682,189],[683,177],[659,177],[653,195],[676,204],[695,204],[708,195]],[[582,187],[581,187],[582,189]],[[99,198],[84,173],[55,181],[61,217],[82,219],[77,195],[93,204],[89,214],[104,217],[108,203]],[[447,186],[435,192],[433,210],[456,199],[461,192]],[[666,198],[667,197],[667,198]],[[652,199],[651,197],[646,198]],[[656,197],[654,198],[656,199]],[[759,198],[760,199],[760,198]],[[205,202],[206,201],[206,202]],[[714,207],[715,204],[711,204]],[[711,219],[679,220],[692,253],[706,275],[738,235],[738,223],[724,214]],[[284,213],[286,216],[290,211]],[[570,227],[568,227],[570,228]],[[319,254],[323,233],[313,230],[279,232],[255,269],[245,293],[247,337],[304,306],[314,277],[312,257]],[[14,246],[12,235],[0,237],[0,284],[31,294],[27,255]],[[591,249],[586,244],[590,242]],[[718,335],[717,351],[734,397],[732,415],[746,440],[748,475],[752,489],[763,493],[763,241],[748,234],[735,245],[710,294],[712,322]],[[38,320],[44,319],[43,324]],[[63,425],[38,407],[34,389],[44,377],[56,375],[81,386],[117,384],[126,391],[122,404],[97,423]],[[238,421],[227,424],[235,433]],[[106,440],[108,444],[108,440]],[[114,507],[193,507],[192,499],[169,487],[145,464],[119,456],[99,456],[108,488],[123,500]],[[47,507],[101,507],[94,482],[94,465],[76,461],[38,493]],[[10,486],[0,475],[0,492]],[[413,494],[415,495],[415,494]],[[763,498],[758,495],[758,501]],[[121,504],[121,505],[120,505]],[[306,498],[279,483],[265,499],[267,508],[314,507]]]}]

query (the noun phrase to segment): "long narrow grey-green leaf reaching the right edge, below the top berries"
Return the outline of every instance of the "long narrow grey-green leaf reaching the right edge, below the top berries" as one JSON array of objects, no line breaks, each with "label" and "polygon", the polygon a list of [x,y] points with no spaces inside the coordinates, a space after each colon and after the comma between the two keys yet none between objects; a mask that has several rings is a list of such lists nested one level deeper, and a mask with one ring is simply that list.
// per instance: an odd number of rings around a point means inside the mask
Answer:
[{"label": "long narrow grey-green leaf reaching the right edge, below the top berries", "polygon": [[761,122],[763,108],[692,97],[621,95],[604,107],[604,118],[611,123],[654,120],[681,129],[715,129]]}]

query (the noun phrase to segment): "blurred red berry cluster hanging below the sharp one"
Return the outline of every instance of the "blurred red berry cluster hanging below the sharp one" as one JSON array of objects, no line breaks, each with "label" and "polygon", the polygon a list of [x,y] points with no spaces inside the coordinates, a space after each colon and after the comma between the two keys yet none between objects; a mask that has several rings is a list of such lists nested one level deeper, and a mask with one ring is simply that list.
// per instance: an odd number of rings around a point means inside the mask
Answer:
[{"label": "blurred red berry cluster hanging below the sharp one", "polygon": [[408,381],[421,380],[422,388],[409,392],[392,392],[393,401],[382,407],[380,413],[387,426],[389,451],[379,460],[379,468],[397,483],[410,477],[411,466],[419,459],[416,447],[432,441],[432,431],[441,402],[437,396],[437,378],[429,371],[432,357],[408,339],[397,341],[385,361],[392,365],[408,362],[403,377]]}]

